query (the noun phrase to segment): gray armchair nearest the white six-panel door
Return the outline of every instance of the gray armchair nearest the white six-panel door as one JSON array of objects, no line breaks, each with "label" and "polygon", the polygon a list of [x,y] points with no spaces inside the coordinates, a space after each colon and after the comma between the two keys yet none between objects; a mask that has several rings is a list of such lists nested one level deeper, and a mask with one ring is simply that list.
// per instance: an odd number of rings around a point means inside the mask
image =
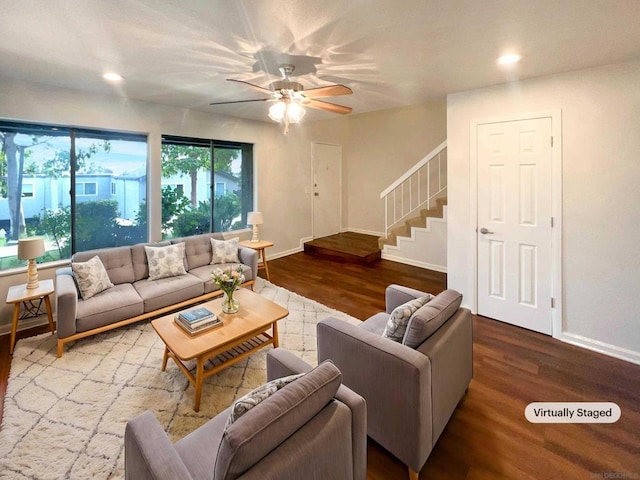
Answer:
[{"label": "gray armchair nearest the white six-panel door", "polygon": [[473,375],[471,313],[459,308],[462,296],[454,290],[412,315],[422,317],[409,324],[404,339],[412,336],[415,348],[382,336],[397,306],[424,295],[390,285],[386,313],[358,326],[335,318],[318,323],[318,361],[331,359],[343,384],[364,397],[368,435],[415,480]]}]

